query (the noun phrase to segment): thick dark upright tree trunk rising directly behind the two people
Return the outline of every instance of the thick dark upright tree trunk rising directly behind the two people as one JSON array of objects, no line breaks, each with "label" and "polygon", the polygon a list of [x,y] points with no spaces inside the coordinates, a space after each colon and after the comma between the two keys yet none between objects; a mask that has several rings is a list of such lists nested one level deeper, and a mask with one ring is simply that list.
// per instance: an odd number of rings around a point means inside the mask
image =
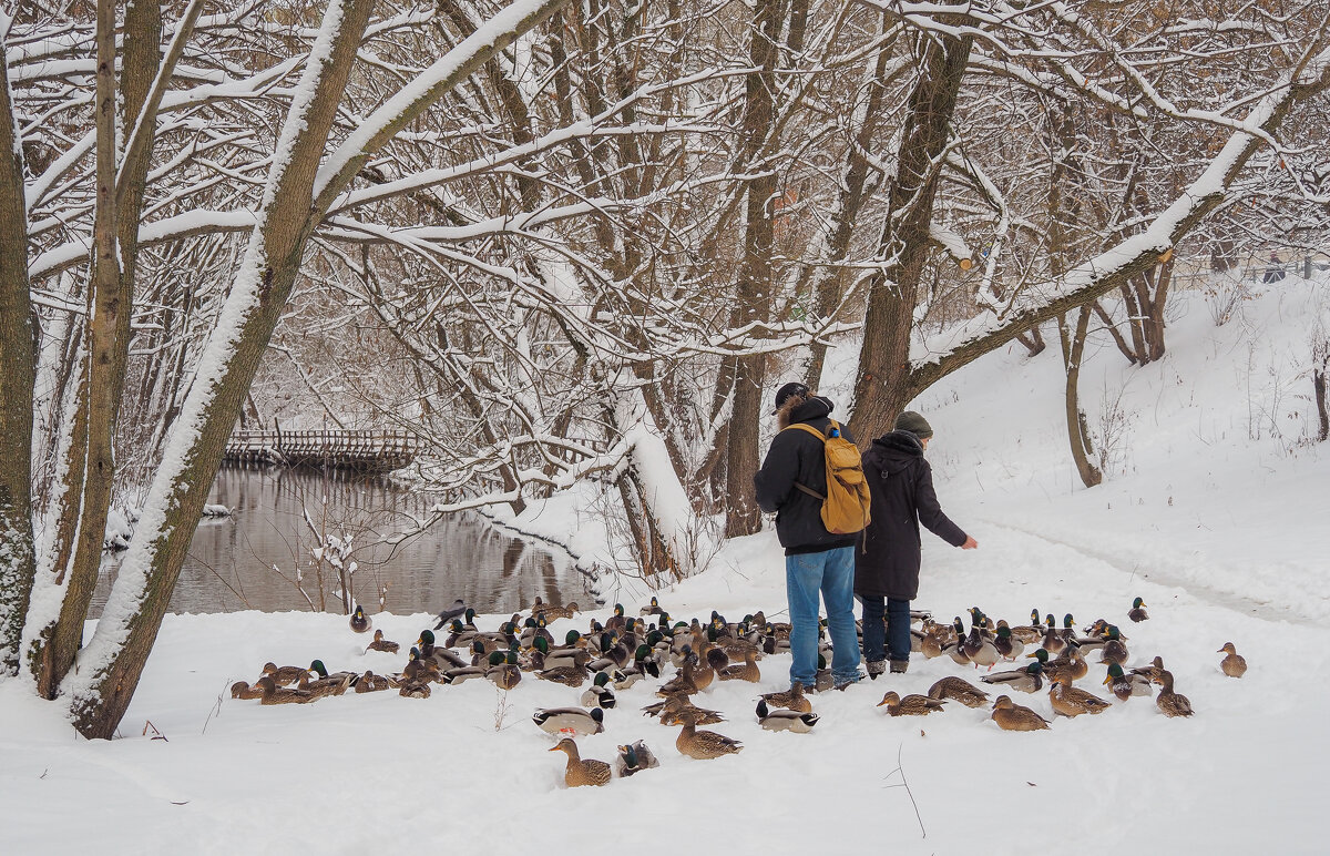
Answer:
[{"label": "thick dark upright tree trunk rising directly behind the two people", "polygon": [[938,164],[950,137],[972,41],[970,35],[930,33],[922,47],[919,81],[910,93],[887,221],[878,242],[882,270],[868,281],[850,421],[861,446],[887,430],[916,394],[910,385],[914,310],[928,256]]}]

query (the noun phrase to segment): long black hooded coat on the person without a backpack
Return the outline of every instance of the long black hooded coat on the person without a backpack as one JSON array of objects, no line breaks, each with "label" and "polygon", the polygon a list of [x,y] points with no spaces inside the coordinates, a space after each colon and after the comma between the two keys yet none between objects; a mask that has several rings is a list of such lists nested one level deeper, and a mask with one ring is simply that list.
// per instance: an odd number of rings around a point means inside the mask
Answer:
[{"label": "long black hooded coat on the person without a backpack", "polygon": [[919,523],[954,547],[967,535],[938,505],[932,467],[923,445],[910,431],[891,431],[872,441],[863,455],[872,522],[863,531],[863,550],[854,556],[854,592],[914,600],[919,594]]}]

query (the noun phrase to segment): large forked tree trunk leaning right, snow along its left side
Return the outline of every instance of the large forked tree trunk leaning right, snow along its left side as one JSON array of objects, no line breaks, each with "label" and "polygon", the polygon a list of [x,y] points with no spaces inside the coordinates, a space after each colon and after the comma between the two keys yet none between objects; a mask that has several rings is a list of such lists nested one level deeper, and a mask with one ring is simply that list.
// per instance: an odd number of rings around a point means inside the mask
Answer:
[{"label": "large forked tree trunk leaning right, snow along its left side", "polygon": [[364,164],[495,52],[567,0],[508,7],[363,120],[329,156],[329,132],[356,59],[374,0],[332,0],[295,88],[249,246],[201,355],[201,370],[166,445],[138,531],[106,602],[97,634],[66,678],[74,726],[110,738],[129,707],[184,564],[226,438],[243,406],[301,269],[305,248],[329,208]]}]

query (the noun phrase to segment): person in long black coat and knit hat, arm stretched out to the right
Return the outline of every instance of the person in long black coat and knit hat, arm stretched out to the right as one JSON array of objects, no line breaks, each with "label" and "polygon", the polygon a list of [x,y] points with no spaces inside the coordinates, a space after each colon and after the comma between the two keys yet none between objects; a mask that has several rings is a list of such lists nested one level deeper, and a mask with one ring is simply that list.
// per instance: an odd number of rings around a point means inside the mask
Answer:
[{"label": "person in long black coat and knit hat, arm stretched out to the right", "polygon": [[863,550],[855,554],[854,592],[863,603],[863,659],[874,680],[886,671],[888,652],[892,672],[906,671],[910,662],[910,602],[919,594],[919,525],[954,547],[979,546],[942,513],[932,467],[923,457],[931,438],[928,421],[907,410],[896,417],[895,430],[872,441],[863,454],[872,522],[863,530]]}]

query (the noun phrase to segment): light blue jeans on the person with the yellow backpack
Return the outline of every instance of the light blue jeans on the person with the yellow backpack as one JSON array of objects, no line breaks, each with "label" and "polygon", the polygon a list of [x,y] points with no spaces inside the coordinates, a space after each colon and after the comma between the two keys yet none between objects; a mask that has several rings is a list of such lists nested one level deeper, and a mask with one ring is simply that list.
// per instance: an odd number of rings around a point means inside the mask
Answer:
[{"label": "light blue jeans on the person with the yellow backpack", "polygon": [[817,686],[818,595],[827,606],[831,631],[831,676],[837,683],[859,678],[859,636],[854,628],[854,547],[785,556],[785,591],[790,600],[790,683]]}]

